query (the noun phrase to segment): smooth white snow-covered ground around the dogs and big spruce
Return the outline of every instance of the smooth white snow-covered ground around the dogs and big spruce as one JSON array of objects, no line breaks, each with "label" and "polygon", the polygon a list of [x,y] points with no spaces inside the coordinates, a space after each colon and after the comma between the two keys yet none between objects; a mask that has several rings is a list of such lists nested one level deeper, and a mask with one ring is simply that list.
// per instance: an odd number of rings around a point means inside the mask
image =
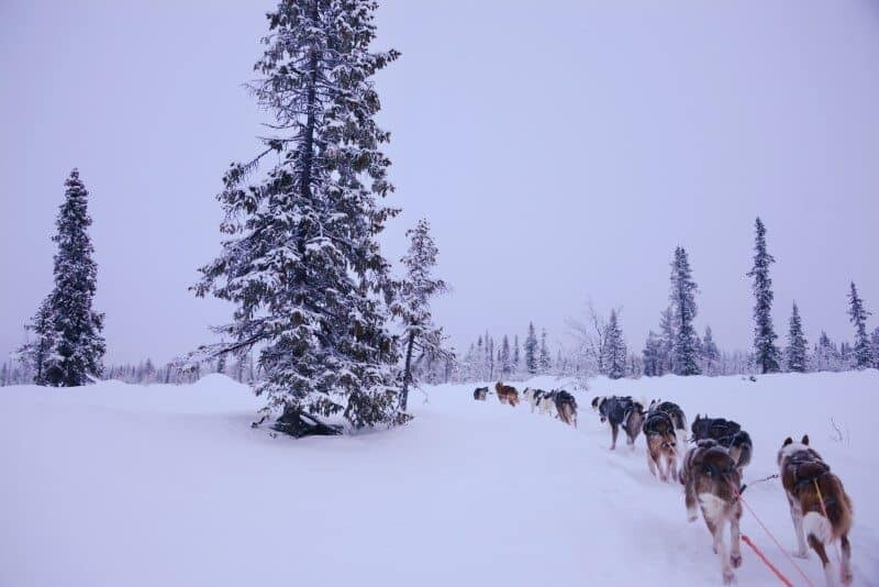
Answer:
[{"label": "smooth white snow-covered ground around the dogs and big spruce", "polygon": [[[608,451],[589,408],[607,394],[737,420],[755,443],[746,481],[808,432],[854,500],[856,585],[879,584],[879,373],[590,387],[578,430],[447,385],[413,395],[405,428],[300,441],[252,430],[259,401],[222,376],[0,388],[0,585],[719,584],[704,524],[649,475],[643,436]],[[779,483],[745,498],[793,549]],[[742,529],[802,584],[747,512]],[[738,584],[775,584],[742,547]],[[798,563],[823,584],[814,555]]]}]

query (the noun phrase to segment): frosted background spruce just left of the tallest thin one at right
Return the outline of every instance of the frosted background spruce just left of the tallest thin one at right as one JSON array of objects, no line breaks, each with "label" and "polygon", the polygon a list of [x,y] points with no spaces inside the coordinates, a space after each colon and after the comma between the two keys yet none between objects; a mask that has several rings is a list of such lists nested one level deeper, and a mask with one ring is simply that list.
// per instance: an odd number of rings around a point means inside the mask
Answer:
[{"label": "frosted background spruce just left of the tallest thin one at right", "polygon": [[682,246],[675,250],[671,262],[671,308],[675,312],[675,347],[672,370],[676,375],[699,375],[699,353],[697,334],[693,328],[696,319],[696,292],[698,286],[692,279],[687,251]]}]

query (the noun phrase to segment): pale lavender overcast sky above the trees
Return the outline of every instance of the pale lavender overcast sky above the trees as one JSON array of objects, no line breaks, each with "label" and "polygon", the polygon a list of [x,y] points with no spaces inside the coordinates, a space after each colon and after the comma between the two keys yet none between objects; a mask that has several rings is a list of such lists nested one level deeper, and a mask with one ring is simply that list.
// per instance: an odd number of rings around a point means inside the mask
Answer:
[{"label": "pale lavender overcast sky above the trees", "polygon": [[[214,195],[266,120],[242,88],[270,1],[0,1],[0,353],[52,287],[63,182],[90,198],[108,362],[166,361],[229,318],[187,287],[220,252]],[[454,294],[464,347],[527,322],[564,342],[587,299],[639,351],[690,254],[700,331],[750,344],[754,218],[775,320],[852,339],[854,279],[879,325],[879,3],[386,0],[377,79],[404,212]]]}]

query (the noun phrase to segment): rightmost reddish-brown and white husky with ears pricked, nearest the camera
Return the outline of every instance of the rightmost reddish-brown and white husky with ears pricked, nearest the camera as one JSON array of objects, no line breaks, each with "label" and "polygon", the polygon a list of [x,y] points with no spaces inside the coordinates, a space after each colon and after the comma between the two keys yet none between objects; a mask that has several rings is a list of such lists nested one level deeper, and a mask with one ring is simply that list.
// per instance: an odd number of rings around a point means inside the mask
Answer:
[{"label": "rightmost reddish-brown and white husky with ears pricked, nearest the camera", "polygon": [[809,446],[808,434],[800,442],[793,442],[790,436],[785,439],[778,452],[778,466],[797,534],[797,555],[801,558],[809,556],[805,550],[808,541],[821,558],[827,586],[834,586],[836,576],[826,546],[838,539],[843,551],[842,582],[852,585],[848,532],[854,512],[839,477],[831,473],[831,467]]}]

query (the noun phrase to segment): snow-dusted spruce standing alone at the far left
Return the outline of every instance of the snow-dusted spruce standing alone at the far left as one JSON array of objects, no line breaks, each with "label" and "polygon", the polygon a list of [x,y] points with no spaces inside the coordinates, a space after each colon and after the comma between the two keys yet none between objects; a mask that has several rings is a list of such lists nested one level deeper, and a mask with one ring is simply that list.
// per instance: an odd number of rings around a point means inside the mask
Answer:
[{"label": "snow-dusted spruce standing alone at the far left", "polygon": [[55,287],[31,324],[37,348],[25,345],[22,351],[32,362],[41,357],[40,380],[35,383],[74,387],[101,376],[105,344],[101,336],[103,314],[91,308],[98,265],[91,258],[94,248],[88,234],[89,192],[78,169],[70,171],[64,186],[64,202],[55,221],[57,233],[52,237],[58,244]]}]

